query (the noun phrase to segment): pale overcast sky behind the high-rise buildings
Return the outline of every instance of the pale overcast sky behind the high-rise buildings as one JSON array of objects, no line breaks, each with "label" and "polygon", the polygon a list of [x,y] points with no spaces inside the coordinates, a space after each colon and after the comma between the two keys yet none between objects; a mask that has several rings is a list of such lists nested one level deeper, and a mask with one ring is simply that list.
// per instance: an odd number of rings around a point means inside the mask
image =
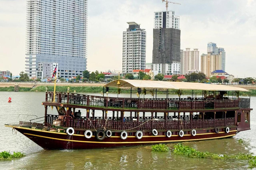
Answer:
[{"label": "pale overcast sky behind the high-rise buildings", "polygon": [[[207,52],[207,42],[226,51],[226,72],[256,77],[255,0],[175,0],[180,16],[181,49]],[[122,69],[122,34],[128,21],[146,29],[146,62],[152,62],[154,11],[165,10],[161,0],[89,0],[89,71]],[[26,1],[0,0],[0,70],[15,75],[25,70]],[[254,51],[254,52],[253,52]]]}]

